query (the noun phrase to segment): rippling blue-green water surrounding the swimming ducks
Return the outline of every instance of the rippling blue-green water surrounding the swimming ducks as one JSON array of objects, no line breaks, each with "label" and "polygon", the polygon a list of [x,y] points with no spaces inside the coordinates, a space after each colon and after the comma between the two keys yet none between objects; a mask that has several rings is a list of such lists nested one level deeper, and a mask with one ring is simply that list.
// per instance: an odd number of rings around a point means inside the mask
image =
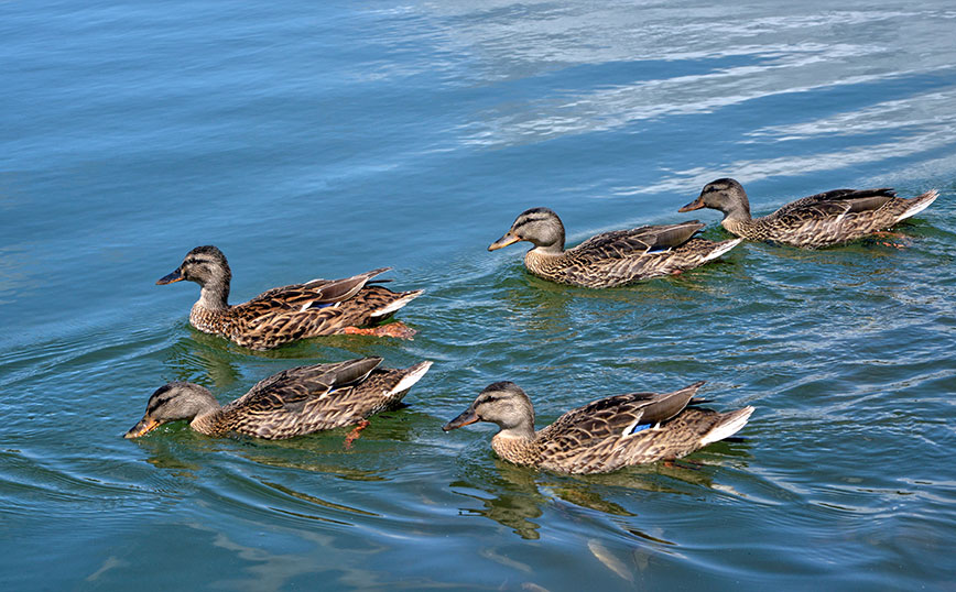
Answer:
[{"label": "rippling blue-green water surrounding the swimming ducks", "polygon": [[[956,11],[947,2],[0,4],[0,573],[10,590],[952,588]],[[930,188],[905,248],[746,244],[590,292],[487,253],[523,209],[572,241]],[[718,215],[694,212],[723,237]],[[391,265],[413,341],[254,353],[155,286],[217,244],[233,302]],[[434,360],[410,407],[285,442],[121,434],[193,380],[229,401],[290,365]],[[741,442],[569,478],[492,428],[707,380]]]}]

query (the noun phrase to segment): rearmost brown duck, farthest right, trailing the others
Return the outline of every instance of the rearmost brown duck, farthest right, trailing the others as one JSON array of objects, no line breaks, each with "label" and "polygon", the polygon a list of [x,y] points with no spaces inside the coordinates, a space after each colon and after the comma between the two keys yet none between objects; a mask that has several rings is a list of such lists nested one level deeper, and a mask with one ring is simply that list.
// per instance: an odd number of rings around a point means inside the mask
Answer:
[{"label": "rearmost brown duck, farthest right, trailing the others", "polygon": [[762,218],[750,217],[747,191],[738,182],[708,183],[700,196],[677,211],[713,208],[724,212],[731,234],[750,241],[770,241],[805,249],[830,246],[890,228],[926,209],[936,189],[905,199],[889,187],[835,189],[792,201]]}]

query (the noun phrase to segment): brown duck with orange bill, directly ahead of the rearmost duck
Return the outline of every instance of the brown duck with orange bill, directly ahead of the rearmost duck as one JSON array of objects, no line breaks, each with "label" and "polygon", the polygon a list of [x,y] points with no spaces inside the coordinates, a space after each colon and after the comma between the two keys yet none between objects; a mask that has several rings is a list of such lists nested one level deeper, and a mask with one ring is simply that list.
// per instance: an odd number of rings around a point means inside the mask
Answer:
[{"label": "brown duck with orange bill, directly ahead of the rearmost duck", "polygon": [[524,266],[534,275],[560,284],[607,288],[692,270],[740,242],[692,238],[702,228],[704,224],[691,220],[616,230],[565,251],[561,218],[547,208],[532,208],[523,211],[488,250],[529,241],[534,246],[524,255]]}]

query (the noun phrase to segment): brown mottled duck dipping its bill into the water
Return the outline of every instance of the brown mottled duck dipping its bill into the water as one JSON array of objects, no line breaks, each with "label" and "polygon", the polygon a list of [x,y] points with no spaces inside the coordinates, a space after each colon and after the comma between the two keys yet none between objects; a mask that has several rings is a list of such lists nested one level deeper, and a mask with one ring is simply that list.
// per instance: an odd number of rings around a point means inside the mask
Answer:
[{"label": "brown mottled duck dipping its bill into the water", "polygon": [[[379,368],[381,358],[359,358],[333,364],[283,370],[261,381],[248,393],[220,407],[207,388],[189,382],[171,382],[157,388],[146,413],[127,438],[178,419],[206,436],[241,434],[281,440],[358,424],[372,414],[394,408],[409,388],[428,371],[432,362],[404,370]],[[355,436],[349,435],[347,442]]]}]

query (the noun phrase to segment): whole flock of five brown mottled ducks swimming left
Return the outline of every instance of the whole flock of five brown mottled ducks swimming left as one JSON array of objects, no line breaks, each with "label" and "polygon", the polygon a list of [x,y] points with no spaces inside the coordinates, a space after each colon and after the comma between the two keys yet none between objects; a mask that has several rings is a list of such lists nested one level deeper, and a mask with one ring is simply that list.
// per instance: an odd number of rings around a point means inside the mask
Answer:
[{"label": "whole flock of five brown mottled ducks swimming left", "polygon": [[[743,187],[721,178],[707,184],[697,199],[678,211],[720,210],[724,228],[738,237],[732,240],[697,238],[704,224],[693,220],[605,232],[565,249],[564,226],[557,215],[533,208],[522,212],[488,250],[528,241],[532,249],[524,255],[524,265],[534,275],[589,288],[621,286],[697,267],[743,240],[817,249],[880,234],[919,213],[936,197],[936,190],[905,199],[890,188],[837,189],[754,219]],[[384,321],[422,290],[384,287],[381,284],[389,281],[378,276],[388,270],[276,287],[230,305],[231,272],[226,256],[215,246],[197,246],[156,283],[186,279],[199,284],[199,299],[189,313],[193,327],[246,348],[267,350],[337,333],[411,337],[415,331],[404,324]],[[346,437],[348,447],[368,426],[369,416],[399,406],[432,365],[424,361],[390,369],[381,363],[381,358],[361,358],[292,368],[261,381],[226,406],[203,386],[173,382],[150,396],[142,420],[126,437],[138,438],[182,419],[208,436],[241,434],[267,439],[355,426]],[[556,472],[608,472],[675,460],[739,431],[753,407],[727,413],[700,407],[706,401],[695,395],[702,384],[673,393],[609,396],[572,409],[535,431],[534,408],[524,391],[511,382],[496,382],[443,429],[490,421],[499,427],[491,447],[508,461]]]}]

